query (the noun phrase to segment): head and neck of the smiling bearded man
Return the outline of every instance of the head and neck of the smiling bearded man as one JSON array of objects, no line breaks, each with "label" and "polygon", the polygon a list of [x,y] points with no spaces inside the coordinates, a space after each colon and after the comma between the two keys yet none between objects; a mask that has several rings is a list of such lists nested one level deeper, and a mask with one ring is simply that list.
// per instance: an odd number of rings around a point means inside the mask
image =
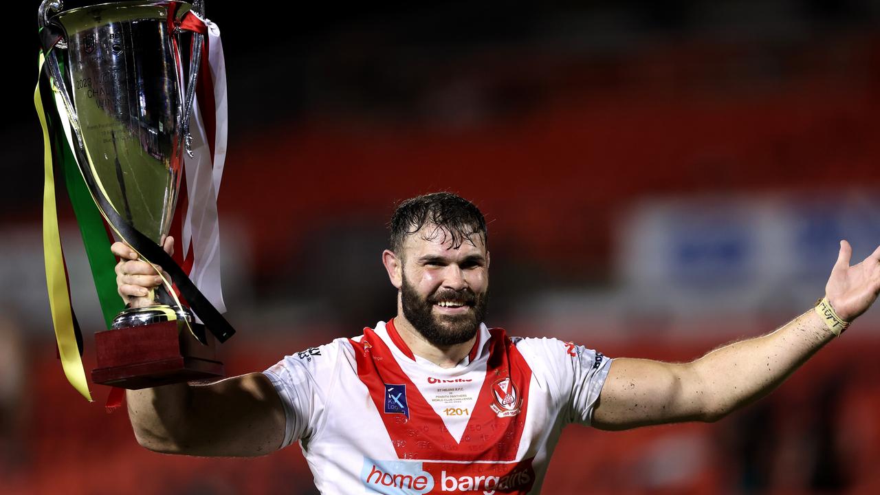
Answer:
[{"label": "head and neck of the smiling bearded man", "polygon": [[399,291],[402,335],[420,355],[455,366],[486,316],[486,221],[472,203],[439,193],[401,204],[391,231],[382,262]]}]

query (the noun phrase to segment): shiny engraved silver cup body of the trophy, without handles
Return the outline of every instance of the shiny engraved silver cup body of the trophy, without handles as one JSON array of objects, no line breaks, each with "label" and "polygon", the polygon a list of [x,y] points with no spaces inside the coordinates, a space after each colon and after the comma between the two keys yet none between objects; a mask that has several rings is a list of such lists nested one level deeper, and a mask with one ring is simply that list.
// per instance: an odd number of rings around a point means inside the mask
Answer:
[{"label": "shiny engraved silver cup body of the trophy, without handles", "polygon": [[168,36],[163,24],[134,21],[89,27],[69,40],[74,107],[100,194],[156,242],[171,223],[181,159]]}]

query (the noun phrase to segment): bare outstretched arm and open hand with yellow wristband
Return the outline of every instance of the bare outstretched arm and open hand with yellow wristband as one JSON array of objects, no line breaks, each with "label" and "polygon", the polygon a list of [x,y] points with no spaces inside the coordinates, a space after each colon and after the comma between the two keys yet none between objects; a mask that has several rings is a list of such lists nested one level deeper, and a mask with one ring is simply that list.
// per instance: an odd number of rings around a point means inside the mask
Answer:
[{"label": "bare outstretched arm and open hand with yellow wristband", "polygon": [[[842,321],[864,313],[880,292],[880,247],[854,266],[849,266],[851,255],[852,247],[842,240],[825,285],[825,299]],[[715,421],[772,391],[834,336],[826,318],[810,309],[770,334],[723,346],[690,363],[615,359],[592,425],[624,430]]]}]

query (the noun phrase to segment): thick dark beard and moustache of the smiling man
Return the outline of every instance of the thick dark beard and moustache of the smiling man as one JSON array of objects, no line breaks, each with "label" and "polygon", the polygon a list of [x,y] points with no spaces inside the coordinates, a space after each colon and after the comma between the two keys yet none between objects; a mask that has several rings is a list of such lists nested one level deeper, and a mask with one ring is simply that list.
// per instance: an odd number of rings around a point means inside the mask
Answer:
[{"label": "thick dark beard and moustache of the smiling man", "polygon": [[[403,315],[413,324],[416,331],[425,337],[425,340],[437,347],[449,347],[465,343],[477,335],[477,329],[486,317],[488,291],[474,294],[468,288],[461,291],[446,289],[422,299],[404,275],[403,284],[400,286],[400,300]],[[433,313],[434,303],[441,300],[463,301],[466,306],[472,307],[473,311],[437,316]]]}]

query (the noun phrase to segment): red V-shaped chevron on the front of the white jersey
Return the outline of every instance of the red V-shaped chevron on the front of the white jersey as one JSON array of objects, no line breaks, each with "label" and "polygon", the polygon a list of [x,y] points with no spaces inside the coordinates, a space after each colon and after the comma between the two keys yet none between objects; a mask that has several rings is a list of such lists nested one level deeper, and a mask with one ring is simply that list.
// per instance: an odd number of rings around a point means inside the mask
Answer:
[{"label": "red V-shaped chevron on the front of the white jersey", "polygon": [[[452,437],[443,419],[404,373],[382,338],[372,329],[364,329],[361,342],[349,340],[355,349],[358,378],[370,391],[398,459],[516,460],[528,408],[532,369],[503,329],[490,329],[489,333],[491,342],[486,379],[468,420],[466,434],[460,441]],[[365,349],[365,343],[371,347]],[[408,417],[385,414],[386,390],[390,384],[405,388]],[[400,389],[394,393],[397,394],[394,397],[400,400]]]}]

